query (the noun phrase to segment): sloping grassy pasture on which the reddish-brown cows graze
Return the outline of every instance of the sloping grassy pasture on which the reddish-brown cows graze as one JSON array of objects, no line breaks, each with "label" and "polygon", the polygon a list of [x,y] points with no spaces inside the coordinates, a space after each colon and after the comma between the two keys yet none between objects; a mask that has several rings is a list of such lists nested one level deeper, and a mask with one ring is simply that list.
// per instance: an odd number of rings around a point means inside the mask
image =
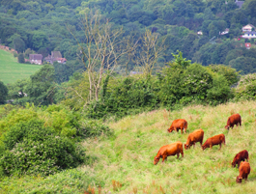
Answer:
[{"label": "sloping grassy pasture on which the reddish-brown cows graze", "polygon": [[[233,113],[242,115],[242,126],[227,131],[224,126]],[[45,180],[8,179],[0,183],[0,192],[83,193],[91,181],[92,187],[101,184],[101,193],[256,193],[255,114],[256,103],[246,101],[128,116],[109,124],[115,137],[102,136],[83,142],[87,154],[97,158],[92,166],[78,169],[84,177],[75,172],[63,172]],[[153,160],[161,146],[186,141],[188,133],[181,135],[181,132],[168,133],[166,130],[178,118],[187,120],[188,132],[200,127],[204,129],[204,142],[213,135],[224,133],[226,146],[220,151],[214,146],[213,150],[203,152],[197,143],[195,149],[185,151],[184,158],[169,156],[166,163],[159,162],[155,166]],[[242,184],[238,184],[239,170],[232,168],[231,162],[235,154],[244,149],[249,152],[252,170],[247,182],[242,180]],[[98,193],[98,189],[96,191]]]}]

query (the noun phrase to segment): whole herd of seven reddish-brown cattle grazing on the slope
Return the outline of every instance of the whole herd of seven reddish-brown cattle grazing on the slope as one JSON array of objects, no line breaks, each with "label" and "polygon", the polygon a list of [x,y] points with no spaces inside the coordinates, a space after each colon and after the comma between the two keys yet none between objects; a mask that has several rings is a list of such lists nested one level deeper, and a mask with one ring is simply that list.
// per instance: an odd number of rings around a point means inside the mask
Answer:
[{"label": "whole herd of seven reddish-brown cattle grazing on the slope", "polygon": [[[228,118],[227,125],[225,126],[225,128],[226,129],[229,129],[230,127],[233,128],[234,125],[242,125],[240,114],[234,114],[230,116]],[[187,122],[184,119],[179,119],[179,120],[173,121],[172,125],[167,130],[168,132],[172,132],[173,130],[179,132],[179,129],[181,129],[183,134],[184,130],[186,132],[186,128],[187,128]],[[193,147],[195,147],[196,142],[200,143],[203,151],[207,148],[212,149],[214,145],[219,145],[219,150],[220,150],[221,144],[225,145],[224,134],[214,135],[213,137],[208,138],[204,144],[203,144],[203,139],[204,139],[204,130],[201,128],[194,130],[187,137],[187,140],[185,143],[185,150],[190,149],[192,145]],[[160,158],[162,158],[162,162],[164,162],[164,160],[167,160],[167,156],[169,155],[177,154],[177,158],[179,158],[180,153],[182,153],[182,156],[184,157],[184,149],[183,149],[182,142],[175,142],[175,143],[163,146],[157,152],[156,157],[154,158],[154,164],[156,165]],[[247,161],[245,161],[245,159]],[[248,159],[249,159],[249,154],[246,150],[237,153],[236,156],[234,157],[232,166],[236,167],[236,165],[238,164],[239,172],[240,172],[240,175],[237,177],[237,182],[242,182],[242,179],[247,180],[247,177],[250,173],[250,164],[248,162]]]}]

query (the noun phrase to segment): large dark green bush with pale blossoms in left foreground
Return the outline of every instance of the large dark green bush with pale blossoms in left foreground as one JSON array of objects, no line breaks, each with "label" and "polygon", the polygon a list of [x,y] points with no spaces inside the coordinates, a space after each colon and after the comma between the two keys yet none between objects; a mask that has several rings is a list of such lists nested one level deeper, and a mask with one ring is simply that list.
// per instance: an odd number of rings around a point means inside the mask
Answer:
[{"label": "large dark green bush with pale blossoms in left foreground", "polygon": [[38,119],[12,126],[4,135],[3,144],[0,166],[8,176],[47,176],[83,161],[83,154],[78,154],[71,140],[58,136]]}]

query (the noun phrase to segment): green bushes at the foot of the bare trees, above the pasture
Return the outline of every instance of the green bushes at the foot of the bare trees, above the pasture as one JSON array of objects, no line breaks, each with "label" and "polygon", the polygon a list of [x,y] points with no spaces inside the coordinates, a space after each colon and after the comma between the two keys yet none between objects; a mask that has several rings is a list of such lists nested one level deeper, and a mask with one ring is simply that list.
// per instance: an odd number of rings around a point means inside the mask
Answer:
[{"label": "green bushes at the foot of the bare trees, above the pasture", "polygon": [[127,115],[132,109],[138,109],[135,112],[140,112],[145,108],[156,108],[157,98],[154,90],[154,79],[151,77],[126,77],[106,92],[104,98],[92,101],[86,109],[86,114],[95,119],[110,115],[119,118]]}]

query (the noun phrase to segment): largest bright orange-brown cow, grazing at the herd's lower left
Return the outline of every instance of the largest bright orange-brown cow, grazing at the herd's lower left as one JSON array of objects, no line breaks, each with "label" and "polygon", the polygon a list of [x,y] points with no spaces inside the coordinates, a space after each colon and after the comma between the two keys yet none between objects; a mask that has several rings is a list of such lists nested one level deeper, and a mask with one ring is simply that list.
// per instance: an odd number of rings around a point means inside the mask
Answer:
[{"label": "largest bright orange-brown cow, grazing at the herd's lower left", "polygon": [[177,158],[179,158],[180,153],[182,153],[184,157],[184,149],[183,149],[182,142],[175,142],[175,143],[163,146],[157,152],[156,157],[154,158],[154,164],[156,165],[161,157],[162,157],[162,163],[164,162],[165,159],[167,160],[167,156],[170,156],[170,155],[177,154]]}]

